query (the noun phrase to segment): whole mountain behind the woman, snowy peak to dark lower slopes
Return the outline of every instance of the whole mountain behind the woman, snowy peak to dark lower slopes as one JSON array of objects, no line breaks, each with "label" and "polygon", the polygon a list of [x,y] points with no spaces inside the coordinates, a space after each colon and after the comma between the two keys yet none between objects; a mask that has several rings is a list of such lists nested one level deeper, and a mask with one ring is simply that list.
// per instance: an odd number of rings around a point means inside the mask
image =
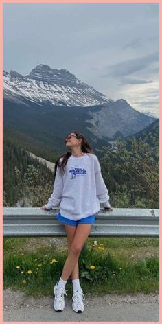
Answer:
[{"label": "whole mountain behind the woman, snowy peak to dark lower slopes", "polygon": [[73,130],[82,132],[97,149],[140,132],[154,120],[124,99],[102,95],[66,69],[40,64],[27,76],[3,71],[3,125],[55,150]]}]

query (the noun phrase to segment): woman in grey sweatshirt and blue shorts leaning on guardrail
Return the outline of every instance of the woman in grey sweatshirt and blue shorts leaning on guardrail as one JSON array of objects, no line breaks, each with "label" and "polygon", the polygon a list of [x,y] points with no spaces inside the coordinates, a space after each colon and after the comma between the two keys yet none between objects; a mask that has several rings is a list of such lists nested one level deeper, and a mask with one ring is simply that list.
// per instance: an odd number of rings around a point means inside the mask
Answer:
[{"label": "woman in grey sweatshirt and blue shorts leaning on guardrail", "polygon": [[78,258],[82,247],[95,224],[95,213],[100,203],[112,211],[108,190],[102,178],[100,163],[88,141],[80,132],[74,131],[66,137],[70,152],[58,158],[55,165],[54,191],[48,203],[41,209],[60,205],[57,219],[65,225],[68,240],[68,257],[62,275],[54,286],[54,310],[65,308],[65,285],[71,275],[73,282],[73,303],[75,312],[84,311],[84,294],[80,286]]}]

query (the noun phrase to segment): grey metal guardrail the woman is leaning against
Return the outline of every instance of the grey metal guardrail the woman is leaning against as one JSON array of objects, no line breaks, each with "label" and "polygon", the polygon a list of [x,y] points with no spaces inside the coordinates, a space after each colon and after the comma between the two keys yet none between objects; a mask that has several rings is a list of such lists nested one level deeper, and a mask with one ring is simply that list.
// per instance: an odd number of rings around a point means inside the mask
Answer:
[{"label": "grey metal guardrail the woman is leaning against", "polygon": [[[58,211],[58,208],[5,207],[3,236],[66,236],[64,225],[56,219]],[[100,209],[89,236],[159,237],[159,209]]]}]

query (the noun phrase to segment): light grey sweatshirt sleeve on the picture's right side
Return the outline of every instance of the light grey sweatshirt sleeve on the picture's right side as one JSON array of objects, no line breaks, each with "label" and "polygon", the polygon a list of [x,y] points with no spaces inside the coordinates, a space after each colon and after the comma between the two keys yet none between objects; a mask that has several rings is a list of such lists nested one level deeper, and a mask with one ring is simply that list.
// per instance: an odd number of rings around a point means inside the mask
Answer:
[{"label": "light grey sweatshirt sleeve on the picture's right side", "polygon": [[95,157],[95,185],[96,185],[96,193],[99,198],[100,203],[104,203],[104,207],[110,207],[108,189],[104,183],[104,179],[101,174],[101,166],[100,163]]}]

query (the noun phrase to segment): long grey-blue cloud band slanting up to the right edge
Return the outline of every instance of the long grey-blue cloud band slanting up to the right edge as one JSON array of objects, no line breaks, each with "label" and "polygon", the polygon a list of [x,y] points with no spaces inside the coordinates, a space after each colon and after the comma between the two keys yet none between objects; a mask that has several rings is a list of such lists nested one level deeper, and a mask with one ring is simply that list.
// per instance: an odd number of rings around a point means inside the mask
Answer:
[{"label": "long grey-blue cloud band slanting up to the right edge", "polygon": [[142,58],[135,58],[133,60],[127,60],[115,65],[110,65],[109,67],[105,68],[106,73],[104,73],[102,77],[113,76],[118,78],[122,76],[129,76],[132,73],[149,67],[154,62],[159,62],[159,52],[149,54],[148,56],[143,56]]}]

